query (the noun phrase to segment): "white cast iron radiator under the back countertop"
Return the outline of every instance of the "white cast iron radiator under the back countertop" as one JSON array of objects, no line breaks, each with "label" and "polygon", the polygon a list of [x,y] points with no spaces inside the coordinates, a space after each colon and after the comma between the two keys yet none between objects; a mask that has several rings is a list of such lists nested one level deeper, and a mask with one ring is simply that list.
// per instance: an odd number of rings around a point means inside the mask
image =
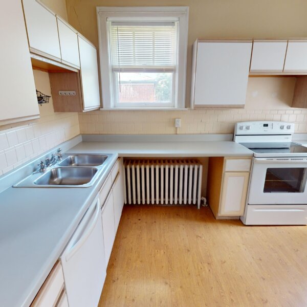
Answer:
[{"label": "white cast iron radiator under the back countertop", "polygon": [[197,160],[125,160],[125,204],[201,205]]}]

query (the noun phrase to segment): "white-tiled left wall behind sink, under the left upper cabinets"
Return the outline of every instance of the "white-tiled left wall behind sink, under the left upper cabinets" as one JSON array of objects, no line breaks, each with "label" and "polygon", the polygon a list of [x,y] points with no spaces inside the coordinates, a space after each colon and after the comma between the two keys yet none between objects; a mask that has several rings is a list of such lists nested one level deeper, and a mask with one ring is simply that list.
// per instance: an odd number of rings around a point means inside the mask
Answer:
[{"label": "white-tiled left wall behind sink, under the left upper cabinets", "polygon": [[[33,71],[36,89],[51,95],[49,75]],[[0,176],[78,134],[77,113],[54,113],[52,98],[39,106],[40,118],[7,125],[0,131]]]}]

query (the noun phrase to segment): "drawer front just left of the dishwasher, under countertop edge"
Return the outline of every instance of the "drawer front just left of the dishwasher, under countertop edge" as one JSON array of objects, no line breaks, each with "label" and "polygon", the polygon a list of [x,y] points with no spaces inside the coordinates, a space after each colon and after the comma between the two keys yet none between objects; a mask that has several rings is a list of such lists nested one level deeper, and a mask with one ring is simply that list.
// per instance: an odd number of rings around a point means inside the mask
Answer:
[{"label": "drawer front just left of the dishwasher, under countertop edge", "polygon": [[64,277],[60,262],[53,267],[37,293],[31,307],[53,307],[64,287]]}]

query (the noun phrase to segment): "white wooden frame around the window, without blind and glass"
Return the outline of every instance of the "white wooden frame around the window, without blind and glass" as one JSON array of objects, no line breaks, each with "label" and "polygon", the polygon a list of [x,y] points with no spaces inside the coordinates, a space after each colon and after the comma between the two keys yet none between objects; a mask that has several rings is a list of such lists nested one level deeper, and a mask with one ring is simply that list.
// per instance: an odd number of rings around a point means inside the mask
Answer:
[{"label": "white wooden frame around the window, without blind and glass", "polygon": [[[97,7],[97,23],[99,37],[99,59],[102,89],[102,109],[119,109],[114,106],[115,94],[112,88],[111,54],[108,43],[107,18],[177,18],[178,21],[178,61],[177,84],[174,95],[174,106],[163,107],[161,104],[148,104],[148,106],[134,107],[130,105],[125,109],[183,109],[185,108],[186,67],[188,46],[188,18],[189,7]],[[136,104],[137,105],[137,104]],[[123,108],[120,108],[123,109]]]}]

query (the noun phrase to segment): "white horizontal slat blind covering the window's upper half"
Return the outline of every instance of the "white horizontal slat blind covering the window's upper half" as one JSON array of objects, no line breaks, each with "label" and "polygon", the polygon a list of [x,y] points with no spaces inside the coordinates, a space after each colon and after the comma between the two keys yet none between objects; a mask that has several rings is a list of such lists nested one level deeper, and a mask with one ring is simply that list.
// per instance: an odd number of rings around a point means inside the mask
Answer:
[{"label": "white horizontal slat blind covering the window's upper half", "polygon": [[116,23],[110,27],[113,71],[171,70],[177,60],[177,22]]}]

